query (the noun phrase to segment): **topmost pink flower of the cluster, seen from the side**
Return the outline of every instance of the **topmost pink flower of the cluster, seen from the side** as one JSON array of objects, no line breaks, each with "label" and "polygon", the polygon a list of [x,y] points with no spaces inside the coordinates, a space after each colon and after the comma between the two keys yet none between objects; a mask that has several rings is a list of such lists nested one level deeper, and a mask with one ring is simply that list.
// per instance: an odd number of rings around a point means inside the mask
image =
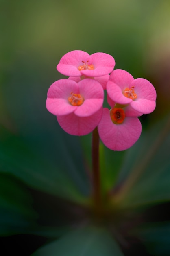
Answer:
[{"label": "topmost pink flower of the cluster, seen from the side", "polygon": [[109,74],[114,66],[115,60],[109,54],[96,52],[89,55],[87,52],[75,50],[61,58],[57,70],[65,76],[95,77]]}]

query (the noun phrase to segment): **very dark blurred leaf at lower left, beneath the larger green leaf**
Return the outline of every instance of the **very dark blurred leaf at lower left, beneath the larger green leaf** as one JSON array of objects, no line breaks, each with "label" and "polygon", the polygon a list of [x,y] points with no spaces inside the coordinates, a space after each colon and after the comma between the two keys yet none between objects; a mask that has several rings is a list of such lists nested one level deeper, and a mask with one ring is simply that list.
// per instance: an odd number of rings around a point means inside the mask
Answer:
[{"label": "very dark blurred leaf at lower left, beneath the larger green leaf", "polygon": [[1,172],[0,236],[34,234],[56,239],[80,221],[75,208],[81,206],[30,190],[13,175]]}]

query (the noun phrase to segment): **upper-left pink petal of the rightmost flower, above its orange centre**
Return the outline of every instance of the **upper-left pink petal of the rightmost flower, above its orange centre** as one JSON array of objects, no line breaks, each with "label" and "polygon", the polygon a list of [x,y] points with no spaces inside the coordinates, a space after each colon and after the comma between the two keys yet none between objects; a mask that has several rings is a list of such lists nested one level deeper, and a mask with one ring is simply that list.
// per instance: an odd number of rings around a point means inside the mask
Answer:
[{"label": "upper-left pink petal of the rightmost flower, above its orange centre", "polygon": [[126,87],[129,87],[134,80],[133,76],[125,70],[117,69],[111,72],[109,80],[118,85],[123,91]]}]

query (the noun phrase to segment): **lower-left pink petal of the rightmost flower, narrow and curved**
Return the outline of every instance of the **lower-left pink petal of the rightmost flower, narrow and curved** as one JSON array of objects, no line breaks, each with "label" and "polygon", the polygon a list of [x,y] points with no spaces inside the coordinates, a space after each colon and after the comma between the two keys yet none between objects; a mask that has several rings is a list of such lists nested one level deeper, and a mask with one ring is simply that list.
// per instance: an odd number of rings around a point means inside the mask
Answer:
[{"label": "lower-left pink petal of the rightmost flower, narrow and curved", "polygon": [[125,97],[122,94],[122,89],[120,86],[118,86],[116,83],[113,83],[110,79],[107,82],[106,90],[110,99],[116,103],[124,105],[129,104],[132,101],[132,99]]}]

